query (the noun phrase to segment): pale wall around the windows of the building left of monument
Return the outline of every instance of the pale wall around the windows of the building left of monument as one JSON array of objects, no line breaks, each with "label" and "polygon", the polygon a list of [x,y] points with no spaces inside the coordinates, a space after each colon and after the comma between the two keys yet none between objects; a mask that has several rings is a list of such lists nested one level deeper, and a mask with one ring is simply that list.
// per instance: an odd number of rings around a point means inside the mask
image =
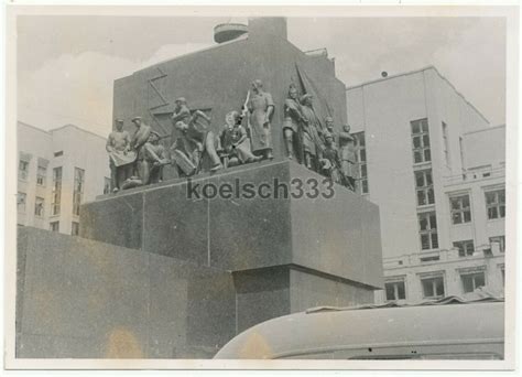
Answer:
[{"label": "pale wall around the windows of the building left of monument", "polygon": [[[85,171],[81,203],[104,194],[106,177],[110,176],[106,139],[67,125],[51,131],[18,123],[19,160],[31,155],[25,180],[19,177],[18,191],[26,194],[25,211],[18,213],[18,224],[50,229],[50,224],[59,222],[59,231],[72,233],[72,223],[79,217],[73,214],[75,168]],[[45,184],[36,184],[40,161],[48,162]],[[17,161],[20,163],[20,161]],[[58,215],[52,215],[53,169],[62,166],[62,197]],[[35,198],[44,198],[43,216],[35,215]]]}]

